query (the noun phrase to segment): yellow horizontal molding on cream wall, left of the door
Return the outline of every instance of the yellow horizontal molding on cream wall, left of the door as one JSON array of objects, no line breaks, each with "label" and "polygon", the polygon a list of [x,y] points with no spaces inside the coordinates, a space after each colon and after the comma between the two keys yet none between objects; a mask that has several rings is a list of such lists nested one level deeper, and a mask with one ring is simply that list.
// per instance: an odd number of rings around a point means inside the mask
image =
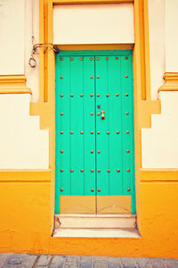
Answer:
[{"label": "yellow horizontal molding on cream wall, left of the door", "polygon": [[0,94],[31,94],[25,75],[0,75]]}]

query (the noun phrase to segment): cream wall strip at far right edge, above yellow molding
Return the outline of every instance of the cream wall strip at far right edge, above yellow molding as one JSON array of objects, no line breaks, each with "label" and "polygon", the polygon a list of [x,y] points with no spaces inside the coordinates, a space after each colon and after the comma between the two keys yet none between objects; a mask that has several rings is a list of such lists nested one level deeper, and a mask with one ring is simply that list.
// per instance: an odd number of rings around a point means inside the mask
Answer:
[{"label": "cream wall strip at far right edge, above yellow molding", "polygon": [[165,0],[166,71],[178,72],[178,1]]}]

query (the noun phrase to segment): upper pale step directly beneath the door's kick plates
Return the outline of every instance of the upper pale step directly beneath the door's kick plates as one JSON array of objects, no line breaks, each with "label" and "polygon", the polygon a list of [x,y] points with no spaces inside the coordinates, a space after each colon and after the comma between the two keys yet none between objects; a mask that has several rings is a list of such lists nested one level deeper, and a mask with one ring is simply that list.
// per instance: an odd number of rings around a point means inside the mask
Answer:
[{"label": "upper pale step directly beneath the door's kick plates", "polygon": [[136,215],[132,214],[56,214],[55,229],[132,229]]}]

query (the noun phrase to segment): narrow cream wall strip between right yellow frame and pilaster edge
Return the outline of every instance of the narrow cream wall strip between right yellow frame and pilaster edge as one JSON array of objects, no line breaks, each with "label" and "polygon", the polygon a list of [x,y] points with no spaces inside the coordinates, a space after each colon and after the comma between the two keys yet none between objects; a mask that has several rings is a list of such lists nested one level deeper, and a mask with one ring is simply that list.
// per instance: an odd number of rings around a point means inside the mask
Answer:
[{"label": "narrow cream wall strip between right yellow frame and pilaster edge", "polygon": [[165,0],[149,0],[151,99],[158,99],[158,88],[165,73]]}]

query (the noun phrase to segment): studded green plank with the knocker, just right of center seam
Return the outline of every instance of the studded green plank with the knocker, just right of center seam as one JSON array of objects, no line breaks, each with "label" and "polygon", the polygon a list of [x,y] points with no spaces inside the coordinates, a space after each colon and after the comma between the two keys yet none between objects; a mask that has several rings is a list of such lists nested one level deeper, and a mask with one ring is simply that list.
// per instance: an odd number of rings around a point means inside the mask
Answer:
[{"label": "studded green plank with the knocker, just right of center seam", "polygon": [[[96,77],[96,181],[97,195],[109,195],[109,111],[108,111],[108,68],[105,56],[95,57]],[[105,120],[101,120],[101,110],[104,110]],[[100,134],[98,134],[100,133]],[[98,154],[100,151],[100,154]],[[99,190],[101,190],[99,192]]]}]

